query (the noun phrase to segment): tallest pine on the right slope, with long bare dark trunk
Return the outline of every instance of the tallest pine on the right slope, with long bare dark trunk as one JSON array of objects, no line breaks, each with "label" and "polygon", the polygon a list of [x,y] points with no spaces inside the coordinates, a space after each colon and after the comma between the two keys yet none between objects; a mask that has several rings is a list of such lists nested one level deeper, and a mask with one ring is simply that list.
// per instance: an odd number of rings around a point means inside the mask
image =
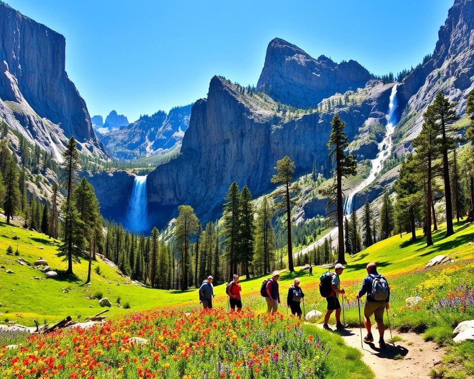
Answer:
[{"label": "tallest pine on the right slope, with long bare dark trunk", "polygon": [[453,133],[458,131],[458,128],[453,124],[459,119],[456,114],[457,103],[451,103],[443,96],[442,91],[438,92],[435,101],[430,105],[426,111],[439,127],[439,134],[441,137],[441,155],[443,160],[443,181],[444,181],[444,196],[446,204],[446,237],[454,234],[453,229],[453,209],[451,204],[451,183],[449,180],[449,160],[448,152],[453,150],[455,139],[451,137]]}]

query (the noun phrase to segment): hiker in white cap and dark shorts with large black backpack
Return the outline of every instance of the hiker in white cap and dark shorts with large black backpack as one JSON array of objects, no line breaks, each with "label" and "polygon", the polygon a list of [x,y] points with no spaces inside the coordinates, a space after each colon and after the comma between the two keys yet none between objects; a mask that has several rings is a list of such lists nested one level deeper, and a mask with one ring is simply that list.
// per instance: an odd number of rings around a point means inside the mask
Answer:
[{"label": "hiker in white cap and dark shorts with large black backpack", "polygon": [[341,303],[339,303],[338,297],[339,294],[344,295],[346,293],[345,290],[340,289],[341,280],[339,279],[344,268],[343,265],[338,263],[334,266],[334,272],[331,273],[330,271],[327,271],[319,277],[319,292],[327,301],[327,311],[324,315],[324,324],[322,325],[326,330],[331,330],[327,323],[329,322],[329,317],[333,311],[336,311],[336,329],[342,330],[346,328],[346,325],[341,322]]}]

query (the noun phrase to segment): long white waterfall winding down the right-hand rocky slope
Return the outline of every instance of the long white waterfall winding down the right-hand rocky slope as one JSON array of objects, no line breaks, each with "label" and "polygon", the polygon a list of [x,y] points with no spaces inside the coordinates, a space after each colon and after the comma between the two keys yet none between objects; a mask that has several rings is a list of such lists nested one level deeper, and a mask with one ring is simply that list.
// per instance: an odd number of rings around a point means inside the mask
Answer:
[{"label": "long white waterfall winding down the right-hand rocky slope", "polygon": [[389,104],[389,111],[387,113],[387,127],[385,132],[385,137],[382,142],[379,144],[379,152],[375,159],[371,160],[372,168],[370,170],[369,176],[360,183],[346,198],[344,199],[344,216],[349,217],[352,213],[353,205],[354,205],[354,196],[357,192],[367,187],[370,183],[372,183],[377,176],[377,174],[382,170],[383,163],[387,160],[387,158],[392,153],[392,134],[395,130],[396,125],[396,87],[395,84],[392,87],[392,93],[390,94],[390,104]]}]

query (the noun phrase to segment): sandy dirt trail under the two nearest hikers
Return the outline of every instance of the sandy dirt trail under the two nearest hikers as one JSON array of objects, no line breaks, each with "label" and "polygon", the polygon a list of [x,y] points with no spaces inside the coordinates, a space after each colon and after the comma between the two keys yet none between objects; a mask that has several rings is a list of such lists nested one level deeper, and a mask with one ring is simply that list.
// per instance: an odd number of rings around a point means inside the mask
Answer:
[{"label": "sandy dirt trail under the two nearest hikers", "polygon": [[[322,325],[318,325],[322,327]],[[335,330],[335,326],[330,326]],[[362,328],[362,337],[365,329]],[[422,336],[415,333],[392,332],[403,341],[388,344],[384,349],[379,348],[378,331],[373,329],[375,343],[363,342],[360,344],[360,330],[348,328],[341,335],[347,345],[360,350],[362,360],[375,373],[376,379],[429,379],[429,373],[436,365],[441,363],[444,350],[435,342],[423,341]],[[385,332],[385,340],[390,338],[390,332]],[[400,356],[402,358],[400,358]],[[395,358],[396,357],[396,358]]]}]

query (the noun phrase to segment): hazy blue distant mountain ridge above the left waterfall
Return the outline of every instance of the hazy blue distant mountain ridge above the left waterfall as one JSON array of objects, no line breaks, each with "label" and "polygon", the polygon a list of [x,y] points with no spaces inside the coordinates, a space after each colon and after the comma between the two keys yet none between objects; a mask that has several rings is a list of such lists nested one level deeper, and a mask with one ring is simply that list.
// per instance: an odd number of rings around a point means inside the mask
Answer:
[{"label": "hazy blue distant mountain ridge above the left waterfall", "polygon": [[145,114],[135,122],[104,134],[101,139],[112,156],[132,159],[167,152],[181,145],[188,129],[191,105],[175,107],[166,114]]}]

